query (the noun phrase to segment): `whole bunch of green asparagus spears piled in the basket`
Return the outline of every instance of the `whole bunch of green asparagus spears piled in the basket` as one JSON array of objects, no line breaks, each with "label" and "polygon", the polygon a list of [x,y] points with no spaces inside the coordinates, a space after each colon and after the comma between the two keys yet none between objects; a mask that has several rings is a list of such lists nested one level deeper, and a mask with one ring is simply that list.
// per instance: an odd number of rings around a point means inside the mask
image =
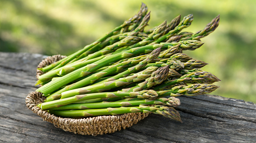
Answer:
[{"label": "whole bunch of green asparagus spears piled in the basket", "polygon": [[210,93],[220,81],[200,69],[207,63],[182,51],[201,47],[200,39],[217,28],[220,16],[196,33],[181,32],[192,14],[145,30],[149,19],[142,3],[137,14],[105,36],[39,69],[44,74],[36,91],[46,100],[38,106],[69,118],[143,112],[181,121],[176,97]]}]

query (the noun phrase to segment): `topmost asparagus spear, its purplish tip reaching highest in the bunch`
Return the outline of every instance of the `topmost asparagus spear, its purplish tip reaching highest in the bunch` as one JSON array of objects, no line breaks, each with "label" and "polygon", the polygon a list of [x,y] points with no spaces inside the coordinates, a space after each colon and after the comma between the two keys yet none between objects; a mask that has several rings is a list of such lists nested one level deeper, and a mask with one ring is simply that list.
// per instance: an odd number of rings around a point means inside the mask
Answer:
[{"label": "topmost asparagus spear, its purplish tip reaching highest in the bunch", "polygon": [[52,70],[52,69],[54,70],[54,69],[57,69],[57,68],[59,68],[59,67],[61,67],[61,66],[63,66],[63,65],[66,65],[66,64],[67,64],[68,62],[70,62],[72,59],[74,59],[75,57],[81,55],[81,54],[84,53],[85,51],[89,50],[90,48],[92,48],[93,46],[95,46],[97,43],[99,43],[99,42],[105,40],[105,39],[108,38],[108,37],[111,37],[116,31],[120,31],[121,28],[123,28],[123,27],[125,27],[125,26],[129,26],[129,25],[131,25],[134,21],[140,19],[140,18],[141,18],[141,15],[142,15],[142,12],[144,12],[144,11],[147,11],[147,7],[146,7],[145,4],[142,3],[139,12],[138,12],[135,16],[133,16],[133,17],[130,18],[129,20],[124,21],[123,24],[121,24],[120,26],[114,28],[112,31],[110,31],[109,33],[107,33],[105,36],[103,36],[103,37],[99,38],[98,40],[96,40],[95,42],[93,42],[93,43],[91,43],[91,44],[85,46],[83,49],[81,49],[81,50],[75,52],[74,54],[72,54],[72,55],[70,55],[70,56],[67,56],[67,57],[65,57],[65,58],[63,58],[63,59],[61,59],[61,60],[59,60],[59,61],[57,61],[57,62],[55,62],[55,63],[53,63],[53,64],[51,64],[51,65],[49,65],[49,66],[46,66],[46,67],[44,67],[44,68],[40,68],[39,70],[41,70],[41,71],[43,71],[43,72],[47,72],[47,71],[50,71],[50,70]]}]

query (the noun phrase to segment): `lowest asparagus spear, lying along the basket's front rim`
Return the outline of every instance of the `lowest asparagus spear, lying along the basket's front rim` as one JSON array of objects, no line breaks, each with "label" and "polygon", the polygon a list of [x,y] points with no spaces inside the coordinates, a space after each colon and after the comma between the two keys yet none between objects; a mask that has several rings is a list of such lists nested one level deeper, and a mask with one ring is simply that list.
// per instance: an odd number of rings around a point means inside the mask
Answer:
[{"label": "lowest asparagus spear, lying along the basket's front rim", "polygon": [[88,117],[88,116],[104,116],[104,115],[118,115],[124,113],[155,113],[163,115],[164,117],[181,121],[178,111],[173,107],[164,105],[153,106],[134,106],[134,107],[119,107],[119,108],[103,108],[103,109],[83,109],[83,110],[49,110],[50,114],[61,117]]}]

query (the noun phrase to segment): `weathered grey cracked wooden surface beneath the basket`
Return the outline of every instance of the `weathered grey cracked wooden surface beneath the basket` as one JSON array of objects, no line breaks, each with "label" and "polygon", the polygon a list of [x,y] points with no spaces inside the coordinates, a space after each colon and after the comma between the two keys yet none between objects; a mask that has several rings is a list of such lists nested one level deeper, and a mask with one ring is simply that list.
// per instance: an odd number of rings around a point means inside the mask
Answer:
[{"label": "weathered grey cracked wooden surface beneath the basket", "polygon": [[179,97],[183,123],[150,114],[125,130],[77,135],[32,113],[35,70],[46,56],[0,52],[0,142],[256,142],[256,105],[215,95]]}]

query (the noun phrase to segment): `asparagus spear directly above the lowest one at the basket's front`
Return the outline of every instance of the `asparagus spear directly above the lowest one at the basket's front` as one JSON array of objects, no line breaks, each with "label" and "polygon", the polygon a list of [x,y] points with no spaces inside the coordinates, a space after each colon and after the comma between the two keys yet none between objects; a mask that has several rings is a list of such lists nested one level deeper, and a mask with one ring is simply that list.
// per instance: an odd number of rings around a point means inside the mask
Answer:
[{"label": "asparagus spear directly above the lowest one at the basket's front", "polygon": [[[139,99],[139,98],[138,98]],[[71,103],[57,108],[50,108],[48,110],[75,110],[75,109],[101,109],[101,108],[116,108],[116,107],[130,107],[139,105],[152,105],[152,104],[163,104],[172,107],[180,105],[180,100],[175,97],[170,98],[159,98],[159,99],[144,99],[144,100],[133,100],[133,101],[116,101],[116,102],[98,102],[98,103]]]}]

